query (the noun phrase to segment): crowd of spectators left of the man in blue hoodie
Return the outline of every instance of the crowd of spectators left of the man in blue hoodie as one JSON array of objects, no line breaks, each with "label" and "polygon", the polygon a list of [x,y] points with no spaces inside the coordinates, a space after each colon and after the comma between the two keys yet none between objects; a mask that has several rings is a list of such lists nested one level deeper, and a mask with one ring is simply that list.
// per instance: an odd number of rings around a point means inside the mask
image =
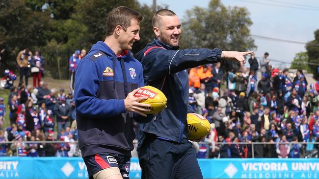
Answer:
[{"label": "crowd of spectators left of the man in blue hoodie", "polygon": [[[83,54],[73,54],[72,57],[78,59]],[[76,66],[78,62],[69,62],[69,67]],[[13,85],[16,75],[8,69],[1,80],[1,87],[10,89],[10,93],[7,104],[3,104],[3,98],[0,98],[0,156],[80,156],[72,90],[65,93],[64,89],[49,89],[48,84],[41,81],[44,58],[38,51],[32,56],[28,48],[22,50],[18,54],[17,64],[20,67],[19,85]],[[33,76],[33,86],[26,84],[29,73]],[[6,112],[9,112],[10,125],[4,128]],[[63,142],[40,142],[54,140]]]}]

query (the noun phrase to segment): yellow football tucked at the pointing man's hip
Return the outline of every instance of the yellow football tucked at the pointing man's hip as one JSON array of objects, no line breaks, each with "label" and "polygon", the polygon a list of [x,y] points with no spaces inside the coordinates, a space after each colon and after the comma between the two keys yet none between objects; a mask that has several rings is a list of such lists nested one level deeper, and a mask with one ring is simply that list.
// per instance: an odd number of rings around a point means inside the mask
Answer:
[{"label": "yellow football tucked at the pointing man's hip", "polygon": [[188,139],[199,139],[211,131],[210,122],[197,113],[187,113]]}]

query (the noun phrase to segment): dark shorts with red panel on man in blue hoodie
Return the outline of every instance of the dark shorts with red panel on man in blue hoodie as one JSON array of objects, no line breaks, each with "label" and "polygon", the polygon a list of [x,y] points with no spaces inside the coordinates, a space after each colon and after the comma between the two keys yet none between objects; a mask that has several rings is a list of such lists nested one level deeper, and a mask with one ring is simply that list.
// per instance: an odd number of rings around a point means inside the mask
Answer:
[{"label": "dark shorts with red panel on man in blue hoodie", "polygon": [[131,157],[119,154],[99,153],[83,158],[87,167],[89,178],[93,179],[93,174],[110,167],[120,169],[123,179],[129,179]]}]

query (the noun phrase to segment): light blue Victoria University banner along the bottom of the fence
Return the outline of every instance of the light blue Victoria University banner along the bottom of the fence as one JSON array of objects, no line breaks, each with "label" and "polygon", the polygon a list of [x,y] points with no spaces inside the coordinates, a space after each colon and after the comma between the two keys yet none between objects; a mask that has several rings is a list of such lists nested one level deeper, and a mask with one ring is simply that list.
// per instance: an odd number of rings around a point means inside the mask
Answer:
[{"label": "light blue Victoria University banner along the bottom of the fence", "polygon": [[[317,158],[199,159],[204,179],[317,179]],[[132,158],[130,179],[140,179]],[[79,157],[0,157],[0,179],[87,179]]]}]

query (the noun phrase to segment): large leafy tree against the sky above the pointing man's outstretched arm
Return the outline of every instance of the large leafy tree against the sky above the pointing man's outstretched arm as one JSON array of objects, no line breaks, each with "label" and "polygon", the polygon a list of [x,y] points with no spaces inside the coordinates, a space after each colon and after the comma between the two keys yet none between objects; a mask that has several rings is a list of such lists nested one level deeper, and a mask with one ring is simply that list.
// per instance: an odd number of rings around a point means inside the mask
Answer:
[{"label": "large leafy tree against the sky above the pointing man's outstretched arm", "polygon": [[220,0],[211,0],[208,8],[195,6],[186,11],[181,45],[183,48],[253,50],[256,45],[249,36],[251,24],[246,8],[226,8]]}]

